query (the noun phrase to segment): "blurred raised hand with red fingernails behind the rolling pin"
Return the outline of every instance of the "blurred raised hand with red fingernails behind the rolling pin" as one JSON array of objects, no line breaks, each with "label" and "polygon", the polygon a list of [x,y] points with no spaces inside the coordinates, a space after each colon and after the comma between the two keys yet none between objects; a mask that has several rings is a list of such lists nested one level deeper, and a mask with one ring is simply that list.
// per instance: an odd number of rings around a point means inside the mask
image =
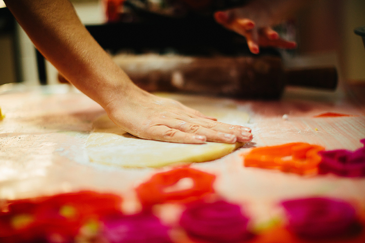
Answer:
[{"label": "blurred raised hand with red fingernails behind the rolling pin", "polygon": [[300,4],[300,0],[255,0],[242,7],[218,11],[214,18],[225,28],[245,36],[254,54],[259,53],[260,46],[293,49],[296,43],[281,38],[271,27],[281,23]]}]

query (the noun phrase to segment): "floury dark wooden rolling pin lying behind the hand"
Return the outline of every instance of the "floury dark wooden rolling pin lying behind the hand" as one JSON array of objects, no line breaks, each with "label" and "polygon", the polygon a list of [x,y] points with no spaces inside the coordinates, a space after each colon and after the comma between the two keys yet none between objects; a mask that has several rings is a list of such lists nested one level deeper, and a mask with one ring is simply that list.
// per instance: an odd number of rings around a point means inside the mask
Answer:
[{"label": "floury dark wooden rolling pin lying behind the hand", "polygon": [[239,99],[278,99],[286,86],[335,90],[335,67],[286,69],[279,56],[115,55],[115,63],[148,92]]}]

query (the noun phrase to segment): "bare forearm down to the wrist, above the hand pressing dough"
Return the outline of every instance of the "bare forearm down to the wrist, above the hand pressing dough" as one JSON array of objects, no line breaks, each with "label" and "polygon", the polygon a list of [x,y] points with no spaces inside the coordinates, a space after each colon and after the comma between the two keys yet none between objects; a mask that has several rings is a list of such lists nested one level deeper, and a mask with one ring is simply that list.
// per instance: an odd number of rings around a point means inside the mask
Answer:
[{"label": "bare forearm down to the wrist, above the hand pressing dough", "polygon": [[79,21],[70,1],[5,3],[44,57],[103,107],[133,85]]}]

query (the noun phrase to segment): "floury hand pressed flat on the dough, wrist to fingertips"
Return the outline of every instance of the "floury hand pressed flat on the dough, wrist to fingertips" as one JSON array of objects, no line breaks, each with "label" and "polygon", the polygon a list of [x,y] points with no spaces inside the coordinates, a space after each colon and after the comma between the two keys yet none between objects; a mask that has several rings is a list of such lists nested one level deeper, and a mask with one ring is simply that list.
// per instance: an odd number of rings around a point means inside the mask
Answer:
[{"label": "floury hand pressed flat on the dough, wrist to fingertips", "polygon": [[105,109],[117,126],[141,139],[235,143],[253,138],[248,127],[218,122],[177,101],[154,96],[137,87],[127,96],[114,99]]}]

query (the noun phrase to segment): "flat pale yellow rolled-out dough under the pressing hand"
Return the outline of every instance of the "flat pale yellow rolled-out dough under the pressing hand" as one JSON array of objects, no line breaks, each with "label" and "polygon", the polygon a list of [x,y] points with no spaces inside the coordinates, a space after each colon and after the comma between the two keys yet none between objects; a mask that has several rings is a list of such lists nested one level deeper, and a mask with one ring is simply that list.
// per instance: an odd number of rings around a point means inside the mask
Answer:
[{"label": "flat pale yellow rolled-out dough under the pressing hand", "polygon": [[[249,115],[237,110],[230,100],[184,95],[161,96],[178,100],[224,123],[244,126],[249,121]],[[162,167],[212,161],[243,145],[239,142],[182,144],[139,139],[117,127],[106,114],[94,121],[93,128],[86,141],[90,161],[119,167]]]}]

